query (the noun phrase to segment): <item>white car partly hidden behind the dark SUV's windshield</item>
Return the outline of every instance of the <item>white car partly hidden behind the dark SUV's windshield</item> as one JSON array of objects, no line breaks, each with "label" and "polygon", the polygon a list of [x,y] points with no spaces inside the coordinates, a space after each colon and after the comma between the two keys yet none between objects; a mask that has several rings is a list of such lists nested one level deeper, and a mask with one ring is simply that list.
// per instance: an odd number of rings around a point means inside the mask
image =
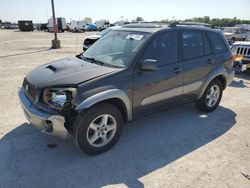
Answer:
[{"label": "white car partly hidden behind the dark SUV's windshield", "polygon": [[100,33],[95,35],[87,36],[83,41],[83,51],[86,51],[92,44],[94,44],[99,38],[106,35],[109,31],[119,28],[120,26],[109,27]]}]

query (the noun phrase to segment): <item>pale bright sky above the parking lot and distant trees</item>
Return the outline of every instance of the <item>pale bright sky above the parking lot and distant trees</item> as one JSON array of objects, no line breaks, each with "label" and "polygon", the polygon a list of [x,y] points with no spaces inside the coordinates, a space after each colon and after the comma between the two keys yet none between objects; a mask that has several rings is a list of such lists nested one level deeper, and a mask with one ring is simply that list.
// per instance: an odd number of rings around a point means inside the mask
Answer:
[{"label": "pale bright sky above the parking lot and distant trees", "polygon": [[[70,19],[91,17],[94,21],[132,20],[141,16],[146,21],[210,16],[250,20],[250,0],[54,0],[56,16]],[[50,0],[0,0],[0,19],[47,22],[51,17]]]}]

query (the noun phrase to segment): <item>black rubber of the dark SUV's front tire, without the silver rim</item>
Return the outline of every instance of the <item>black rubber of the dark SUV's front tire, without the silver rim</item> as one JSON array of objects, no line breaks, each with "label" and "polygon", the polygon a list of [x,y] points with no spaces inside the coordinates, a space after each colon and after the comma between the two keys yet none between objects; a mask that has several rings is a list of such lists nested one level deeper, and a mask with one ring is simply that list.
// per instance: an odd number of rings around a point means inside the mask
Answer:
[{"label": "black rubber of the dark SUV's front tire, without the silver rim", "polygon": [[[116,131],[113,138],[104,146],[94,147],[87,139],[87,131],[93,120],[103,114],[111,115],[116,121]],[[91,107],[87,111],[79,113],[73,123],[73,136],[78,148],[89,155],[97,155],[108,151],[118,141],[122,133],[123,117],[119,109],[110,103],[100,103]]]}]

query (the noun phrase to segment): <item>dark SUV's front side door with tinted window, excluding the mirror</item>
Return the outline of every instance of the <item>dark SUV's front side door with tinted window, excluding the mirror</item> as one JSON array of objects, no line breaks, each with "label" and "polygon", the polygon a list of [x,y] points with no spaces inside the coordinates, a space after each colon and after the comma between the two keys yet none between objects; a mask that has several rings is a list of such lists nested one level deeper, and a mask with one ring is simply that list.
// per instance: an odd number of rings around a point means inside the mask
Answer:
[{"label": "dark SUV's front side door with tinted window, excluding the mirror", "polygon": [[[158,69],[141,71],[143,60],[154,59]],[[144,51],[134,73],[134,115],[165,107],[182,95],[183,65],[179,59],[179,34],[169,31],[155,37]]]}]

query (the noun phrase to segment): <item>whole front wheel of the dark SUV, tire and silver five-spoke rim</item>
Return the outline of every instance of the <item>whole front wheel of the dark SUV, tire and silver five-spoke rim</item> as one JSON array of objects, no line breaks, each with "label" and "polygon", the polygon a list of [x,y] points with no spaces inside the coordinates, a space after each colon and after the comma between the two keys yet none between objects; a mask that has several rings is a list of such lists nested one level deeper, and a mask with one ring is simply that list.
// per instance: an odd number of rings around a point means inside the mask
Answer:
[{"label": "whole front wheel of the dark SUV, tire and silver five-spoke rim", "polygon": [[89,155],[108,151],[122,132],[121,112],[110,103],[100,103],[79,113],[73,123],[73,136],[79,149]]}]

